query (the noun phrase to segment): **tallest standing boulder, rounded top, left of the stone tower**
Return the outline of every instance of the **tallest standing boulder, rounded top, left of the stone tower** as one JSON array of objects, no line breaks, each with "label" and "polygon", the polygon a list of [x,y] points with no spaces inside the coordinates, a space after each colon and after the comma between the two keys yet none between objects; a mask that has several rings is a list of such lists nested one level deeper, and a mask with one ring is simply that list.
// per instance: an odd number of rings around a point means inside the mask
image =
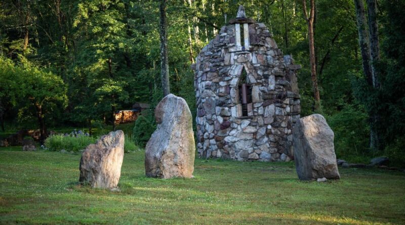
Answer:
[{"label": "tallest standing boulder, rounded top, left of the stone tower", "polygon": [[147,176],[192,177],[195,143],[190,109],[183,98],[170,94],[155,109],[157,128],[146,144]]}]

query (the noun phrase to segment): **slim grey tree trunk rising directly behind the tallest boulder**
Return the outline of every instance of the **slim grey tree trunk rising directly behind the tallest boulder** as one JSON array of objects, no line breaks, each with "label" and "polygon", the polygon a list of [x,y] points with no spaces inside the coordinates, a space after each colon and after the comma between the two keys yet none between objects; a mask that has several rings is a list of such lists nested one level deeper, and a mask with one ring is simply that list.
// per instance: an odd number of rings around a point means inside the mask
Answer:
[{"label": "slim grey tree trunk rising directly behind the tallest boulder", "polygon": [[166,0],[160,0],[160,74],[163,96],[170,94]]}]

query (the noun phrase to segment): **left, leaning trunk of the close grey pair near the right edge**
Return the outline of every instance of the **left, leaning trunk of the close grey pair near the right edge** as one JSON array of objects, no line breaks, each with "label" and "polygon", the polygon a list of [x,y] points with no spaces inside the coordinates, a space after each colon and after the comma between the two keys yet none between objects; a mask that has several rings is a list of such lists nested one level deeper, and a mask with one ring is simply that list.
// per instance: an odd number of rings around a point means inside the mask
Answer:
[{"label": "left, leaning trunk of the close grey pair near the right edge", "polygon": [[367,22],[363,1],[354,0],[354,7],[356,10],[358,44],[360,47],[363,71],[366,75],[367,83],[369,85],[373,85],[373,75],[370,62],[371,56],[369,46],[369,33],[367,31]]}]

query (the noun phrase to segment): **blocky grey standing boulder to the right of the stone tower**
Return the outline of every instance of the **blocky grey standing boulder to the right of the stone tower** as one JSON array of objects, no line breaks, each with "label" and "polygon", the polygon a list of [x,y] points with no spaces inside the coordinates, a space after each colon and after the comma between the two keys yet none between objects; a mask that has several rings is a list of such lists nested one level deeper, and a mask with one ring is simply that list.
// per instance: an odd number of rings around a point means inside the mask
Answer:
[{"label": "blocky grey standing boulder to the right of the stone tower", "polygon": [[301,180],[340,178],[333,139],[334,133],[322,115],[297,121],[293,129],[294,160]]}]

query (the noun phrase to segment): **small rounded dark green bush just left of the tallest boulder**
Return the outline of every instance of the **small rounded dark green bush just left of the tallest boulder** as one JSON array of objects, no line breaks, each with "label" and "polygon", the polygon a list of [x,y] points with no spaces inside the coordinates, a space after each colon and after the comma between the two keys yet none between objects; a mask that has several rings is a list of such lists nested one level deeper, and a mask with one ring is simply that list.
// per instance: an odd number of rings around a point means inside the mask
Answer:
[{"label": "small rounded dark green bush just left of the tallest boulder", "polygon": [[135,143],[139,146],[145,147],[155,129],[156,125],[154,123],[154,118],[151,115],[140,115],[135,121],[135,126],[132,131],[132,137],[134,138]]}]

